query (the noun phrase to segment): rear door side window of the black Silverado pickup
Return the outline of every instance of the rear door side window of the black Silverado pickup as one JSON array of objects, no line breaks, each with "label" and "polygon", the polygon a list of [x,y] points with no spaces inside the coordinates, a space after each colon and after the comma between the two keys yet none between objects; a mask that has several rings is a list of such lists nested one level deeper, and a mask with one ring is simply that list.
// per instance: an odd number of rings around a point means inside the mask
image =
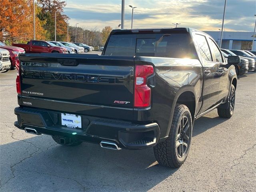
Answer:
[{"label": "rear door side window of the black Silverado pickup", "polygon": [[206,61],[212,61],[210,49],[207,44],[205,36],[195,34],[195,38],[202,58],[204,58]]}]

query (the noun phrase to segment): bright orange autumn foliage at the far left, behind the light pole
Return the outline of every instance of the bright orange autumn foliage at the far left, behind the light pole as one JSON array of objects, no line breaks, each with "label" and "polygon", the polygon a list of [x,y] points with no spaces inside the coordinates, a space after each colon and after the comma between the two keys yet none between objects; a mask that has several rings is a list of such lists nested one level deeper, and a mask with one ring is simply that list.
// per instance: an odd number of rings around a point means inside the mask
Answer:
[{"label": "bright orange autumn foliage at the far left, behind the light pole", "polygon": [[[40,7],[36,5],[36,13]],[[46,31],[44,21],[36,18],[36,36],[44,39]],[[0,40],[26,41],[34,36],[32,0],[1,0],[0,5]]]}]

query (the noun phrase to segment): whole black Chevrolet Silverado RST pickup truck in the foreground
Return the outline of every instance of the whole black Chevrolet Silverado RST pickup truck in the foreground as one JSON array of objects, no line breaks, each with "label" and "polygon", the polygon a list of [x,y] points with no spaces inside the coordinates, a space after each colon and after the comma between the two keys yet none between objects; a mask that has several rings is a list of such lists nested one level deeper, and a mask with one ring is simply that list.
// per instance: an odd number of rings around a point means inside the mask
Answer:
[{"label": "whole black Chevrolet Silverado RST pickup truck in the foreground", "polygon": [[194,120],[215,108],[232,116],[239,62],[192,28],[113,30],[101,56],[22,54],[14,125],[65,146],[154,147],[179,167]]}]

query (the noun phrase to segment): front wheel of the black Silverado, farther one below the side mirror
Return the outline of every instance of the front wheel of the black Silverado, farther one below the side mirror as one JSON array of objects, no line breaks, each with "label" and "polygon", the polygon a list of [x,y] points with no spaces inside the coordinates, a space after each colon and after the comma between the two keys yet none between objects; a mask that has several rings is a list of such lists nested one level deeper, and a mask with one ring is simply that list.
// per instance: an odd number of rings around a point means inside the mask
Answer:
[{"label": "front wheel of the black Silverado, farther one below the side mirror", "polygon": [[218,108],[219,117],[231,118],[235,109],[235,101],[236,101],[236,89],[234,85],[231,85],[230,95],[228,98],[228,102],[229,102],[228,108],[226,109]]}]

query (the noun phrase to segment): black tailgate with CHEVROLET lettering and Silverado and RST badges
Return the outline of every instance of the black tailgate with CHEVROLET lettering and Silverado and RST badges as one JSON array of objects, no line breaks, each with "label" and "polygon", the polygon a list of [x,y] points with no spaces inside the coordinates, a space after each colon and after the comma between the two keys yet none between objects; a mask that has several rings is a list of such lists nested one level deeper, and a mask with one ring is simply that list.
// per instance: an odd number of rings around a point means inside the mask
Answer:
[{"label": "black tailgate with CHEVROLET lettering and Silverado and RST badges", "polygon": [[24,54],[20,105],[132,120],[134,58]]}]

